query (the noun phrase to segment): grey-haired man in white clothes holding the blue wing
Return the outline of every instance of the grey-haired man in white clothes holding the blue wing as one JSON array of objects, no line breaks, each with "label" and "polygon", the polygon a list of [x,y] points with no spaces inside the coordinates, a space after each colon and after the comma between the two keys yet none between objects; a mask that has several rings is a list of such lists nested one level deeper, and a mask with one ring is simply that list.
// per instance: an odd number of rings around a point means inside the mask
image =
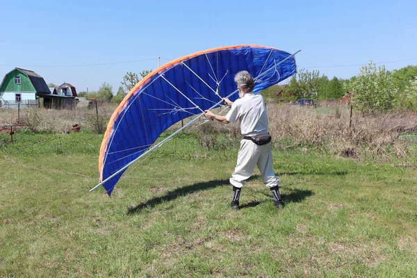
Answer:
[{"label": "grey-haired man in white clothes holding the blue wing", "polygon": [[240,122],[240,132],[244,139],[240,141],[240,150],[235,171],[231,175],[230,183],[233,186],[231,208],[239,209],[240,190],[249,179],[255,166],[258,166],[265,186],[272,191],[273,202],[277,208],[284,207],[279,194],[279,179],[275,177],[272,167],[271,143],[257,145],[251,138],[259,134],[268,134],[268,116],[266,115],[265,102],[261,94],[252,92],[254,79],[247,71],[238,72],[234,78],[238,85],[239,99],[232,102],[225,98],[224,103],[231,106],[227,115],[215,115],[209,110],[204,111],[207,119],[218,120],[223,124]]}]

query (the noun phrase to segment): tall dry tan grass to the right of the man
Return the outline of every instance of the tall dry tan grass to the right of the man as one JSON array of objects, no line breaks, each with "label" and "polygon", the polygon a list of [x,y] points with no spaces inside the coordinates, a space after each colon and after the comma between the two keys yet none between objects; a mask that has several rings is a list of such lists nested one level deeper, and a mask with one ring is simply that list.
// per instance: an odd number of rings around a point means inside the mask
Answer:
[{"label": "tall dry tan grass to the right of the man", "polygon": [[350,126],[347,106],[306,108],[268,104],[273,144],[279,149],[311,146],[347,158],[386,161],[388,156],[407,158],[402,132],[417,131],[417,113],[375,115],[354,113]]}]

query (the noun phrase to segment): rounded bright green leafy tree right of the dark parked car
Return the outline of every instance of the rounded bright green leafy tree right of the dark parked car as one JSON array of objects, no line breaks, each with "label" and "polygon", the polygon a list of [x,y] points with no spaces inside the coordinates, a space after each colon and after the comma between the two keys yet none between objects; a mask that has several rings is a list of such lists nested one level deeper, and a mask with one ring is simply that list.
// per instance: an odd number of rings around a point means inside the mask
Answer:
[{"label": "rounded bright green leafy tree right of the dark parked car", "polygon": [[362,66],[357,79],[347,84],[347,89],[354,92],[352,104],[360,111],[391,111],[398,105],[398,87],[393,80],[393,73],[378,67],[369,61]]}]

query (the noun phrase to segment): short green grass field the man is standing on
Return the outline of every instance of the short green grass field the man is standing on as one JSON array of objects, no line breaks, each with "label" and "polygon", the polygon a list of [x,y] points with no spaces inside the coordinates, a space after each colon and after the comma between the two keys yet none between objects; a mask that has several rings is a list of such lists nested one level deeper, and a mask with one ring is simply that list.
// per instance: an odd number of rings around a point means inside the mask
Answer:
[{"label": "short green grass field the man is standing on", "polygon": [[208,152],[181,133],[109,198],[88,193],[102,136],[0,136],[1,277],[416,275],[411,167],[274,150],[286,207],[275,209],[255,172],[236,212],[238,142]]}]

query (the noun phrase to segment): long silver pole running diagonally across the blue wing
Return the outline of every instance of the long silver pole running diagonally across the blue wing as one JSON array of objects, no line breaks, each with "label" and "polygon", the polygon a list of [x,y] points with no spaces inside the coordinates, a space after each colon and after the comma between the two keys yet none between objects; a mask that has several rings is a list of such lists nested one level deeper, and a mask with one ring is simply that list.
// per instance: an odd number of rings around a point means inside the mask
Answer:
[{"label": "long silver pole running diagonally across the blue wing", "polygon": [[[272,67],[270,67],[268,70],[265,70],[265,72],[263,72],[262,74],[259,74],[259,76],[256,76],[255,81],[260,79],[262,76],[264,76],[267,72],[270,72],[271,70],[275,69],[277,67],[277,65],[280,65],[281,63],[284,63],[286,60],[292,58],[293,56],[295,56],[295,54],[297,54],[298,52],[300,52],[301,50],[291,54],[291,56],[288,56],[287,58],[285,58],[284,60],[281,60],[279,63],[277,63],[276,65],[273,65]],[[227,98],[231,97],[232,95],[236,94],[236,92],[238,92],[238,90],[234,90],[234,92],[231,92]],[[222,104],[223,99],[221,101],[219,101],[218,103],[214,104],[213,106],[211,106],[211,108],[208,108],[208,110],[211,110],[213,108],[215,108],[216,106]],[[200,109],[201,110],[201,109]],[[170,136],[168,136],[167,138],[165,138],[164,140],[162,140],[161,142],[158,142],[158,144],[154,145],[154,147],[148,149],[146,152],[144,152],[143,154],[141,154],[140,156],[138,156],[137,158],[133,159],[133,161],[127,163],[126,165],[124,165],[122,168],[120,168],[119,170],[117,170],[114,174],[112,174],[110,177],[108,177],[107,179],[105,179],[104,181],[101,181],[99,184],[97,184],[97,186],[93,187],[90,189],[90,192],[92,190],[95,190],[96,188],[98,188],[99,186],[101,186],[102,184],[106,183],[108,180],[112,179],[113,177],[115,177],[117,174],[119,174],[120,172],[122,172],[123,170],[126,170],[127,167],[129,167],[130,165],[132,165],[133,163],[135,163],[136,161],[138,161],[140,158],[142,158],[143,156],[145,156],[146,154],[148,154],[149,152],[152,152],[154,149],[156,149],[157,147],[161,147],[161,145],[163,145],[163,143],[165,143],[167,140],[170,140],[170,138],[174,137],[177,135],[177,133],[179,133],[181,130],[185,129],[187,126],[189,126],[190,124],[193,124],[193,122],[197,121],[200,117],[202,117],[204,115],[204,113],[199,114],[195,119],[193,119],[191,122],[188,122],[188,124],[184,125],[181,127],[181,129],[178,129],[177,131],[175,131],[174,133],[172,133]]]}]

